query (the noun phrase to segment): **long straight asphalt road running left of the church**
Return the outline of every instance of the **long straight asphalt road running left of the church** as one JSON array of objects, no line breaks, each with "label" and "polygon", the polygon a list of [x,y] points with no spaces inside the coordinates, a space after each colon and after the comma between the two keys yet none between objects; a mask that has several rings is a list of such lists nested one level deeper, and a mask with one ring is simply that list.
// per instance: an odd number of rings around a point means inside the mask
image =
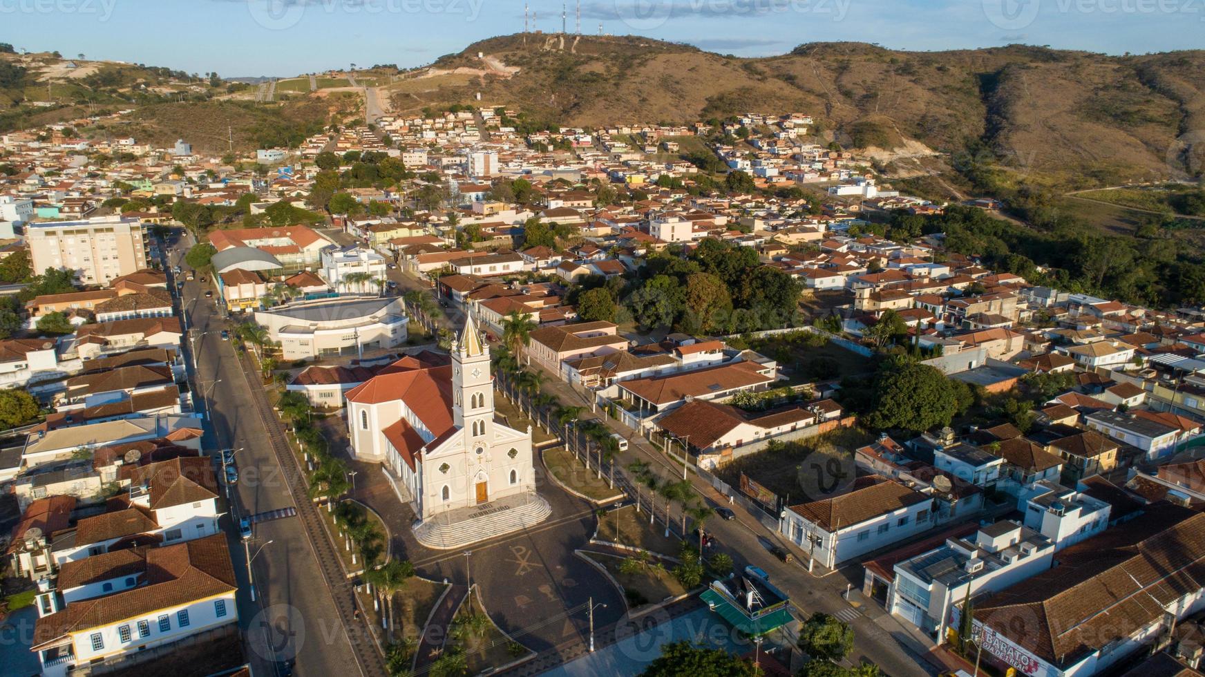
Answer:
[{"label": "long straight asphalt road running left of the church", "polygon": [[[172,254],[172,264],[182,258]],[[180,264],[187,269],[183,263]],[[182,302],[195,348],[195,396],[204,400],[212,425],[205,448],[234,448],[239,482],[231,491],[231,516],[225,518],[230,554],[240,579],[240,625],[247,637],[248,659],[258,675],[275,675],[277,663],[295,661],[296,675],[360,675],[331,591],[323,584],[313,548],[296,517],[255,524],[254,538],[237,537],[237,517],[294,506],[277,459],[268,445],[268,431],[258,417],[251,392],[230,341],[219,332],[227,322],[204,298],[199,281],[186,282]],[[254,376],[252,376],[253,378]],[[198,407],[202,405],[199,401]],[[253,557],[257,600],[247,585],[247,554]],[[257,554],[258,553],[258,554]]]}]

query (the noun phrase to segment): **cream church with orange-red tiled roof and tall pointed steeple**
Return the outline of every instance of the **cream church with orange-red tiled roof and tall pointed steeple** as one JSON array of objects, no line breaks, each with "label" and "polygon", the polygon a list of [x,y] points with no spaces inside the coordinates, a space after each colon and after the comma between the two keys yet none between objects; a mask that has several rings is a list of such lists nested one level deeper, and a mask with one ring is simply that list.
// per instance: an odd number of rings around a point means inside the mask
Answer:
[{"label": "cream church with orange-red tiled roof and tall pointed steeple", "polygon": [[471,317],[451,364],[435,363],[405,357],[347,392],[354,457],[384,466],[419,523],[534,494],[531,430],[494,420],[489,346]]}]

